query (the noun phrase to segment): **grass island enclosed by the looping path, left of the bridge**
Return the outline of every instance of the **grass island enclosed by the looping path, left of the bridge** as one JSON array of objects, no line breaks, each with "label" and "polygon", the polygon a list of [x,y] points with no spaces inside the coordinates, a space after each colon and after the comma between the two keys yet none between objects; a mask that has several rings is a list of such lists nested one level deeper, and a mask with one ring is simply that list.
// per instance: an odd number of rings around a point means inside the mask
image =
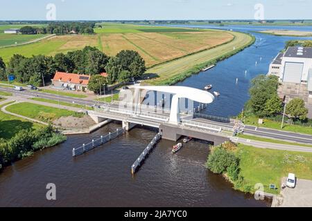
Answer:
[{"label": "grass island enclosed by the looping path, left of the bridge", "polygon": [[12,106],[8,106],[6,110],[11,113],[16,113],[18,115],[37,119],[42,122],[52,122],[54,119],[58,119],[60,117],[81,117],[83,115],[83,113],[76,113],[64,109],[59,110],[58,108],[32,103],[13,104]]}]

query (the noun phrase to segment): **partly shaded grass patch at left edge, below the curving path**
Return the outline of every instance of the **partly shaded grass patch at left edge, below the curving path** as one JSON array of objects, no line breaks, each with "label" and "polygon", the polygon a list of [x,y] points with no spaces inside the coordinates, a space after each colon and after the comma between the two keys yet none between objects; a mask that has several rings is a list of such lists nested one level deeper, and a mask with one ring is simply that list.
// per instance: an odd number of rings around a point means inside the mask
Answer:
[{"label": "partly shaded grass patch at left edge, below the curving path", "polygon": [[[0,106],[0,108],[11,103],[12,102],[3,104]],[[0,138],[10,139],[19,131],[29,128],[35,130],[36,128],[40,128],[40,124],[28,122],[25,119],[7,115],[6,113],[0,111]]]}]

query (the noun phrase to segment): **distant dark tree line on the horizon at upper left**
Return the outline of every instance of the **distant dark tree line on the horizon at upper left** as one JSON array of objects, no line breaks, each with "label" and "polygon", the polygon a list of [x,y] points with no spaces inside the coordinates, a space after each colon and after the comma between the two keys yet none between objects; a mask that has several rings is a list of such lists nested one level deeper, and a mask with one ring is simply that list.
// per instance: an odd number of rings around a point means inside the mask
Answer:
[{"label": "distant dark tree line on the horizon at upper left", "polygon": [[94,34],[94,22],[53,22],[46,27],[24,26],[19,32],[23,35],[35,34],[55,34],[55,35],[69,35],[69,34]]}]

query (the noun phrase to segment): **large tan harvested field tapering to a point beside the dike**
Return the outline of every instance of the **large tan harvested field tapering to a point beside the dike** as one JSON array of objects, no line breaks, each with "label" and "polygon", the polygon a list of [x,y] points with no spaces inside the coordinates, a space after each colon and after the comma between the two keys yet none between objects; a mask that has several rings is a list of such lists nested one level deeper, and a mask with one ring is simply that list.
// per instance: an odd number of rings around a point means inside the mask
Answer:
[{"label": "large tan harvested field tapering to a point beside the dike", "polygon": [[120,50],[137,50],[147,66],[231,41],[229,32],[137,32],[101,34],[103,52],[116,55]]}]

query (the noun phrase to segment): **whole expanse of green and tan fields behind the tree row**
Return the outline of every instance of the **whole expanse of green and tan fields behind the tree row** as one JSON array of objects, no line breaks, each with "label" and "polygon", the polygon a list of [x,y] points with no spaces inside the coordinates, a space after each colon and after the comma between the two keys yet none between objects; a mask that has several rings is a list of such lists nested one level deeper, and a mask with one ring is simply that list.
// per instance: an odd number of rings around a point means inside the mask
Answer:
[{"label": "whole expanse of green and tan fields behind the tree row", "polygon": [[218,30],[196,28],[169,28],[105,23],[96,28],[97,35],[64,35],[35,44],[0,48],[0,56],[8,62],[14,54],[55,55],[58,52],[95,46],[113,56],[121,50],[136,50],[145,59],[146,66],[154,66],[193,52],[212,48],[231,41],[234,36]]}]

